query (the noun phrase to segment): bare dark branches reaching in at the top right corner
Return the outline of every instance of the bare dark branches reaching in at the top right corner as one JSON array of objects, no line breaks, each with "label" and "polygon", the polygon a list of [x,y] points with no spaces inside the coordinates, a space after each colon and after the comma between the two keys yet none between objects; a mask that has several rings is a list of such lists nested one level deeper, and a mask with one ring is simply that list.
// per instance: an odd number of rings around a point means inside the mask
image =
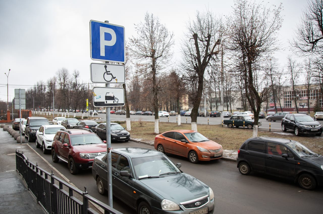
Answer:
[{"label": "bare dark branches reaching in at the top right corner", "polygon": [[308,1],[292,46],[305,54],[323,54],[323,1]]}]

